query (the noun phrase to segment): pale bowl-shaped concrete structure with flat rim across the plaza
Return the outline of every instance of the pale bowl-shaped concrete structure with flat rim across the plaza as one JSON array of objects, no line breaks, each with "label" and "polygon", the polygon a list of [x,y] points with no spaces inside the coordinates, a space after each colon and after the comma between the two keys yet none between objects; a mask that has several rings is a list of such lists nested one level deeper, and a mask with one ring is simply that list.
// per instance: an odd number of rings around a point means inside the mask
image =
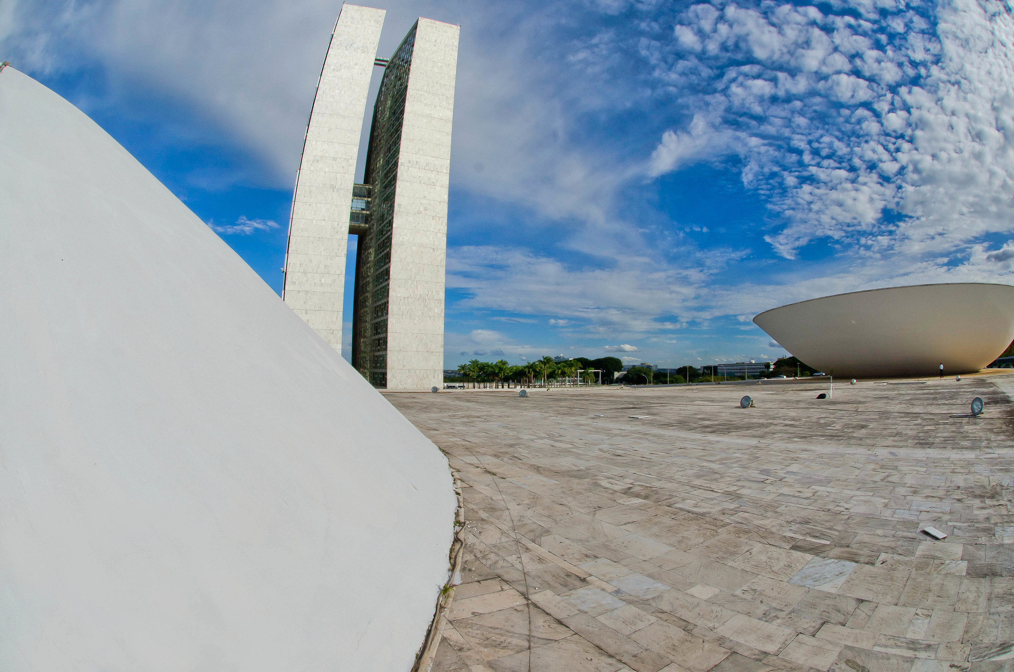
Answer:
[{"label": "pale bowl-shaped concrete structure with flat rim across the plaza", "polygon": [[960,282],[854,291],[753,318],[786,350],[843,378],[976,372],[1014,339],[1014,287]]}]

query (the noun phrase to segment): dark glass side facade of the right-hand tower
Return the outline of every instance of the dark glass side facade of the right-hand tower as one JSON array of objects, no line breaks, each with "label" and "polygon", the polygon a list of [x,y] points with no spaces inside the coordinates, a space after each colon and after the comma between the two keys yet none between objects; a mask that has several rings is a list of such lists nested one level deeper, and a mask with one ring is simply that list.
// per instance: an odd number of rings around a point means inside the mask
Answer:
[{"label": "dark glass side facade of the right-hand tower", "polygon": [[[384,69],[366,154],[366,177],[362,185],[371,188],[359,216],[363,232],[356,247],[356,289],[352,318],[352,362],[373,386],[387,387],[387,287],[390,278],[390,246],[394,219],[394,187],[402,147],[402,124],[409,88],[409,70],[416,42],[416,28],[409,35]],[[353,192],[352,213],[357,197]],[[364,212],[365,210],[365,212]],[[366,224],[368,219],[368,225]],[[355,226],[355,224],[353,225]]]}]

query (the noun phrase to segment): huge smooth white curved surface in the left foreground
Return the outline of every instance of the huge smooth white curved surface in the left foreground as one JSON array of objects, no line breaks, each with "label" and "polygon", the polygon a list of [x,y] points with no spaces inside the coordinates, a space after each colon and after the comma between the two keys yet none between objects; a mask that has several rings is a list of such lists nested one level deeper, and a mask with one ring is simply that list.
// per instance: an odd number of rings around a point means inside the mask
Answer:
[{"label": "huge smooth white curved surface in the left foreground", "polygon": [[422,433],[123,147],[0,72],[0,670],[408,670]]}]

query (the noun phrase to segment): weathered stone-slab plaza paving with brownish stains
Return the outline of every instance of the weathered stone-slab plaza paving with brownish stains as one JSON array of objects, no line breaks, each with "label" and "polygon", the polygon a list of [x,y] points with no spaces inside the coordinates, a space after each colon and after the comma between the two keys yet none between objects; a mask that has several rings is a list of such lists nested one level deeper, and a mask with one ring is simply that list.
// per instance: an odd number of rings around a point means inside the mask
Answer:
[{"label": "weathered stone-slab plaza paving with brownish stains", "polygon": [[388,394],[462,482],[432,669],[1014,670],[993,381]]}]

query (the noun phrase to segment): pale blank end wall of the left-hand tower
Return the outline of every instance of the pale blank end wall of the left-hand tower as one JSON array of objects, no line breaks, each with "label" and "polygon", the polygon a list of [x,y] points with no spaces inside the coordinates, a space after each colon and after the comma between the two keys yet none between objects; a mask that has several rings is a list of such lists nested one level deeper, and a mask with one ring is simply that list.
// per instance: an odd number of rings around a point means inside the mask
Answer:
[{"label": "pale blank end wall of the left-hand tower", "polygon": [[285,303],[339,351],[356,154],[384,13],[342,6],[306,129],[289,222]]}]

